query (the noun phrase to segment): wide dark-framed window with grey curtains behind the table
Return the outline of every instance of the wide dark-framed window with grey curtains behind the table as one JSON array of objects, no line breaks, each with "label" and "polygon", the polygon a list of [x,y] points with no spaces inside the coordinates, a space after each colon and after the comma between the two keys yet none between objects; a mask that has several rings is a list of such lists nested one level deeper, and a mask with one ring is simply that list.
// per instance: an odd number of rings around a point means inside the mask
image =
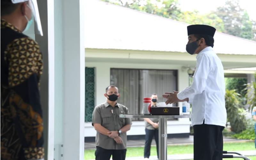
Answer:
[{"label": "wide dark-framed window with grey curtains behind the table", "polygon": [[177,70],[111,68],[110,84],[119,89],[118,103],[126,106],[130,114],[140,114],[143,97],[156,93],[158,102],[164,102],[164,92],[177,91]]}]

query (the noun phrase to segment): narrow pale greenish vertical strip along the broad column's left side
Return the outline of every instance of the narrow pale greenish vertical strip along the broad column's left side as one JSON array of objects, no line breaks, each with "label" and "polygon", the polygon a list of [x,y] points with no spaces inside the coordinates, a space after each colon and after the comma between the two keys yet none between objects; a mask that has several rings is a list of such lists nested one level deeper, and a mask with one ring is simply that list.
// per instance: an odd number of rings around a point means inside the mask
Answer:
[{"label": "narrow pale greenish vertical strip along the broad column's left side", "polygon": [[55,106],[54,106],[54,159],[63,157],[63,28],[62,0],[54,0],[54,36],[55,36]]}]

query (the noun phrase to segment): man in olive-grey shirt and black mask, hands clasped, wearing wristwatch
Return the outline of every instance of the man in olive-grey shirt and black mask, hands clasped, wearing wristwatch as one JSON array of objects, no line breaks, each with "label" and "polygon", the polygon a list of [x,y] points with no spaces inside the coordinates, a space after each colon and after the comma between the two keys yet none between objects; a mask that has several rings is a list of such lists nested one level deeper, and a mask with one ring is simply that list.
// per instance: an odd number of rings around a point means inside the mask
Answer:
[{"label": "man in olive-grey shirt and black mask, hands clasped, wearing wristwatch", "polygon": [[120,97],[118,88],[110,85],[106,88],[104,96],[107,101],[94,108],[92,113],[92,125],[96,134],[96,160],[125,160],[126,132],[131,128],[131,118],[120,118],[120,114],[129,114],[128,108],[118,104]]}]

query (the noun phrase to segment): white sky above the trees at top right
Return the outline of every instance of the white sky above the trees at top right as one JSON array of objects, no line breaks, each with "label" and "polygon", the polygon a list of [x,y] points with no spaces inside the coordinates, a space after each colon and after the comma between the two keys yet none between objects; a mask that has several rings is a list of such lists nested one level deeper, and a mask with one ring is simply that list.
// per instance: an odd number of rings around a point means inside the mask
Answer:
[{"label": "white sky above the trees at top right", "polygon": [[[225,5],[225,0],[179,0],[182,11],[197,10],[200,13],[208,13],[216,10],[219,6]],[[256,20],[256,0],[240,0],[240,5],[247,10],[250,19]]]}]

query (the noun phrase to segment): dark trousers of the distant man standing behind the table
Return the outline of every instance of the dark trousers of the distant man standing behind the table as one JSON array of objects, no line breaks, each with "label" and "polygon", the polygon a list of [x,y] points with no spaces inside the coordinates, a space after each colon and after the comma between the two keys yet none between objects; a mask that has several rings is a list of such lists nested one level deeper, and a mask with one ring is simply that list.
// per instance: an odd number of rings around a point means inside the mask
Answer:
[{"label": "dark trousers of the distant man standing behind the table", "polygon": [[144,158],[149,158],[150,156],[150,148],[151,148],[151,142],[153,137],[155,137],[156,141],[156,150],[157,150],[157,157],[158,157],[158,130],[148,130],[145,129],[146,135],[145,135],[145,147],[144,147]]}]

